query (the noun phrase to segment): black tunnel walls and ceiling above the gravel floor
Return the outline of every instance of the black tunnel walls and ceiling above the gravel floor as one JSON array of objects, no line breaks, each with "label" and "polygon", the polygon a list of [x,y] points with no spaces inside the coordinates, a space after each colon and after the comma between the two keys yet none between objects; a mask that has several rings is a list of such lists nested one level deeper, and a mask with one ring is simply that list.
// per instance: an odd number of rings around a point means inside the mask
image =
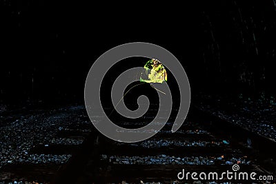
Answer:
[{"label": "black tunnel walls and ceiling above the gravel floor", "polygon": [[134,41],[172,52],[184,66],[193,93],[275,92],[273,0],[200,1],[170,11],[143,12],[139,7],[96,11],[103,6],[2,1],[1,102],[82,103],[95,59]]}]

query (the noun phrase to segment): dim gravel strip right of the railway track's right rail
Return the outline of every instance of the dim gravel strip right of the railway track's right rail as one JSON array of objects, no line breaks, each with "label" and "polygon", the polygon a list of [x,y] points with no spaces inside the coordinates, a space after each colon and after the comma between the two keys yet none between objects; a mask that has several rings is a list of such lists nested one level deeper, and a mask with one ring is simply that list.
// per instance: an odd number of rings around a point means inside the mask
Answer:
[{"label": "dim gravel strip right of the railway track's right rail", "polygon": [[197,108],[276,141],[275,100],[235,99],[200,94]]}]

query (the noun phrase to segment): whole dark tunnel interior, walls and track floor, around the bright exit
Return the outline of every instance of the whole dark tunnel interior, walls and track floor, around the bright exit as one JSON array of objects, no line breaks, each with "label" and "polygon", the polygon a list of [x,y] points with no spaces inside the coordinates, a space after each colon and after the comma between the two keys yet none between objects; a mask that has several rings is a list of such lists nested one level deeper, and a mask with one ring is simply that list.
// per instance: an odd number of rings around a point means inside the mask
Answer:
[{"label": "whole dark tunnel interior, walls and track floor, around the bright exit", "polygon": [[[220,172],[235,164],[276,178],[275,154],[268,152],[276,141],[276,0],[158,6],[1,0],[0,17],[0,183],[193,183],[179,181],[177,173]],[[130,42],[154,43],[177,57],[191,103],[172,134],[181,94],[166,69],[172,113],[158,122],[166,126],[126,144],[92,125],[83,97],[96,59]],[[158,91],[148,83],[125,90],[131,89],[124,96],[130,110],[141,94],[150,99],[139,119],[120,116],[111,103],[117,76],[148,60],[119,61],[101,83],[103,108],[121,127],[143,127],[157,114]],[[101,116],[92,117],[98,121]]]}]

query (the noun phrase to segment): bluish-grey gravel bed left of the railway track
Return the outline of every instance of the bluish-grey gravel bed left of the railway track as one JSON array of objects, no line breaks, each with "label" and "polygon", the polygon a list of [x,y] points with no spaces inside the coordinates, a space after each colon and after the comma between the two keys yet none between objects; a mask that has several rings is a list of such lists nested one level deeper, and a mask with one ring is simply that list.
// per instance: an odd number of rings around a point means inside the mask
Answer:
[{"label": "bluish-grey gravel bed left of the railway track", "polygon": [[[90,132],[92,124],[85,113],[84,106],[70,106],[32,111],[19,116],[12,113],[5,116],[0,114],[0,171],[1,167],[9,165],[67,163],[72,154],[55,154],[55,148],[51,154],[43,154],[43,149],[51,150],[53,146],[61,146],[62,150],[66,145],[81,145],[85,137],[70,136],[70,134]],[[37,149],[42,151],[37,152]],[[26,181],[14,180],[12,183],[26,183]]]}]

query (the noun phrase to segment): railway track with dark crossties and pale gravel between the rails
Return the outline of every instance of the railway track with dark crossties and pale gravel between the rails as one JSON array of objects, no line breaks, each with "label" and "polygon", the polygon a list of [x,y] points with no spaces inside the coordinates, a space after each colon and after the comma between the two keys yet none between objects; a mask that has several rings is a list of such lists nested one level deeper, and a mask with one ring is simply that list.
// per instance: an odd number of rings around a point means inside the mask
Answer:
[{"label": "railway track with dark crossties and pale gravel between the rails", "polygon": [[[86,154],[76,157],[76,159],[81,158],[79,163],[83,165],[74,182],[199,183],[192,178],[180,180],[177,174],[182,170],[207,174],[209,172],[221,174],[226,170],[233,172],[232,167],[235,164],[239,165],[240,172],[255,172],[258,176],[275,175],[275,171],[270,168],[273,167],[273,163],[264,162],[268,158],[273,158],[273,153],[262,150],[266,146],[275,146],[275,143],[259,140],[257,135],[244,132],[245,130],[204,114],[196,108],[190,109],[188,119],[181,129],[172,134],[170,122],[173,116],[174,113],[158,134],[139,143],[119,143],[96,131],[87,142],[88,147],[93,148],[88,151],[87,147],[83,147],[83,153]],[[138,124],[141,127],[146,123]],[[119,122],[117,125],[137,127],[129,122]],[[247,139],[254,140],[253,147],[246,145]],[[70,177],[74,174],[75,170],[65,171],[58,183],[74,180]],[[226,177],[219,181],[216,178],[201,180],[202,183],[229,181]],[[233,183],[254,182],[265,183],[266,181],[234,181]]]}]

